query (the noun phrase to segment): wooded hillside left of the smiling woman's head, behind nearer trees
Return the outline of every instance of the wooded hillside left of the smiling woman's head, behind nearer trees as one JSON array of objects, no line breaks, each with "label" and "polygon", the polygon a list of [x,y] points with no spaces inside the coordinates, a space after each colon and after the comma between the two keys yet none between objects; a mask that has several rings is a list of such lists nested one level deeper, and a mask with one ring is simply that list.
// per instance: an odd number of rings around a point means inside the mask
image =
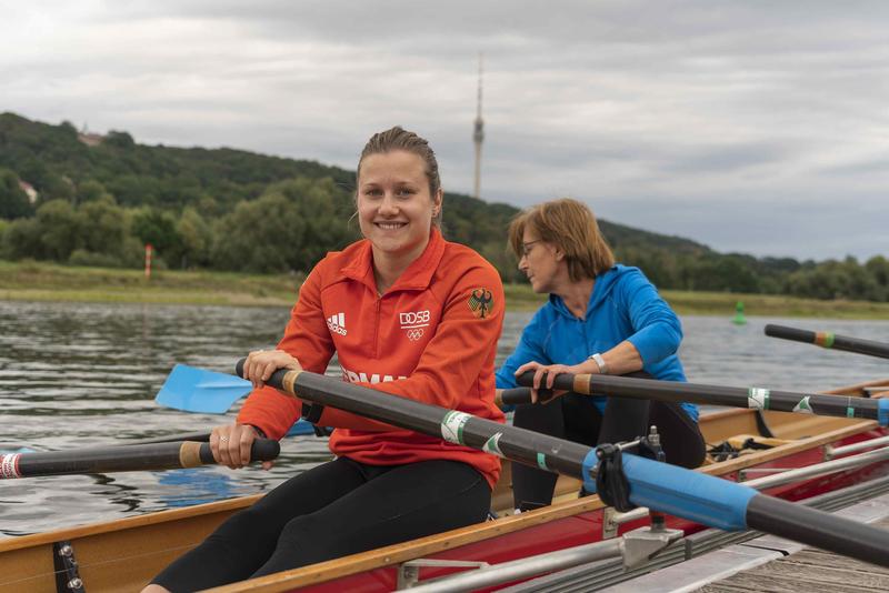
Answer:
[{"label": "wooded hillside left of the smiling woman's head, behind nearer trees", "polygon": [[328,177],[349,185],[354,178],[314,161],[233,149],[149,147],[119,131],[90,135],[87,143],[69,122],[51,125],[2,113],[0,167],[16,171],[41,195],[71,198],[78,185],[94,180],[121,205],[182,208],[208,197],[222,211],[283,179]]}]

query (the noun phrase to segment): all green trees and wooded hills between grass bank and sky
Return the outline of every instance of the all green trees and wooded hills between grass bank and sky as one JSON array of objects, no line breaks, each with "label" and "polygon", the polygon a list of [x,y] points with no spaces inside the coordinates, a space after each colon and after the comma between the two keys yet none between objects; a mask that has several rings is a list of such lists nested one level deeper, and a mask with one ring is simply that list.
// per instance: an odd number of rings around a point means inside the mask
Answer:
[{"label": "all green trees and wooded hills between grass bank and sky", "polygon": [[[22,182],[33,188],[31,200]],[[138,144],[110,132],[88,145],[67,122],[0,114],[0,258],[137,268],[308,271],[359,237],[353,172],[230,149]],[[518,213],[448,193],[443,232],[523,281],[508,252]],[[600,221],[618,261],[659,288],[889,301],[889,261],[799,262],[722,254],[678,237]]]}]

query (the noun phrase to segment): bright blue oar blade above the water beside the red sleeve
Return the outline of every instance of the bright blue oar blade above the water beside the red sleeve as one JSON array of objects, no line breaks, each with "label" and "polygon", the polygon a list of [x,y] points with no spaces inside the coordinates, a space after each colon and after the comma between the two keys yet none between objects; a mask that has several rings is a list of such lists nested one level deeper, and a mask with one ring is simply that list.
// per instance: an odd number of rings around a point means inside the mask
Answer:
[{"label": "bright blue oar blade above the water beside the red sleeve", "polygon": [[177,364],[154,401],[186,412],[222,414],[251,389],[250,381],[234,375]]}]

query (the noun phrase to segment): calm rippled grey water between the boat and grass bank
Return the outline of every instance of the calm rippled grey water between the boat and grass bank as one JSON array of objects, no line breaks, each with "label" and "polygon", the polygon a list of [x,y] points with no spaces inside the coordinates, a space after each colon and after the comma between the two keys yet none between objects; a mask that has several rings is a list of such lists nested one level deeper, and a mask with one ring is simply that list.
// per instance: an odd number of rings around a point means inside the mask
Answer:
[{"label": "calm rippled grey water between the boat and grass bank", "polygon": [[[889,362],[766,338],[777,322],[889,341],[889,321],[687,316],[681,356],[689,380],[808,391],[889,378]],[[246,352],[273,345],[287,308],[21,303],[0,301],[0,451],[119,444],[209,430],[228,416],[158,408],[174,363],[230,372]],[[499,355],[530,313],[507,315]],[[200,468],[170,472],[32,478],[0,482],[0,537],[106,521],[267,491],[329,459],[313,436],[282,443],[270,472]]]}]

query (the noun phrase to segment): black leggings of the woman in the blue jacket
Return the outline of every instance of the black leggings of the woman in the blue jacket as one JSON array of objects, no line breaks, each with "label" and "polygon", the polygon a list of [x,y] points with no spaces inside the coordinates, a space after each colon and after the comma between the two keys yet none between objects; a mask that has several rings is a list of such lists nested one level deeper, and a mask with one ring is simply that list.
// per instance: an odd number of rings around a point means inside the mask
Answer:
[{"label": "black leggings of the woman in the blue jacket", "polygon": [[[567,393],[553,402],[517,405],[516,426],[589,446],[599,443],[632,441],[658,428],[667,462],[683,468],[703,463],[706,445],[698,424],[679,404],[608,398],[605,416],[592,398]],[[558,476],[520,463],[512,464],[512,497],[516,509],[530,511],[552,502]]]}]

